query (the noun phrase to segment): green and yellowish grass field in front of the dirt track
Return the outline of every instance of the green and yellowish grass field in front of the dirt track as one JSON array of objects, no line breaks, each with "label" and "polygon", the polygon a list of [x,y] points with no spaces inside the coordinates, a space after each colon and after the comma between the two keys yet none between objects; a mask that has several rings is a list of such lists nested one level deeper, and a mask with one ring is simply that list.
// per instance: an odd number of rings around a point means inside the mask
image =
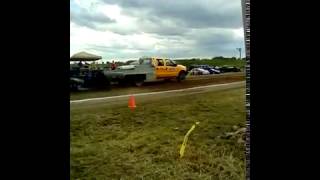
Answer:
[{"label": "green and yellowish grass field in front of the dirt track", "polygon": [[[245,179],[245,147],[217,136],[245,126],[245,89],[71,107],[71,179]],[[185,156],[179,148],[194,122]]]}]

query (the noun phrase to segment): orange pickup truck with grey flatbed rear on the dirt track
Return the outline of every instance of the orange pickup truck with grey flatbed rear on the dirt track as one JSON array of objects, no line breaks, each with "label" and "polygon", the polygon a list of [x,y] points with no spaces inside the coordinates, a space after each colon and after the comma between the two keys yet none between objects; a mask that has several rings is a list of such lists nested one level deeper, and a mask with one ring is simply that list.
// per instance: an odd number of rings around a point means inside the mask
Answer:
[{"label": "orange pickup truck with grey flatbed rear on the dirt track", "polygon": [[130,82],[141,86],[144,82],[161,79],[177,79],[180,82],[186,78],[187,68],[167,58],[142,57],[130,65],[105,70],[104,74],[110,82]]}]

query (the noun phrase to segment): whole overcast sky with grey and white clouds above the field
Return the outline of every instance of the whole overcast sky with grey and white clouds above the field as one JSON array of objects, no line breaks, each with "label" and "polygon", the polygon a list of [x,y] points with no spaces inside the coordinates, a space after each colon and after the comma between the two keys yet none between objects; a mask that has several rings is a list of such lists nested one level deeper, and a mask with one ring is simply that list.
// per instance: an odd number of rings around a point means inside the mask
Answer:
[{"label": "whole overcast sky with grey and white clouds above the field", "polygon": [[70,0],[70,56],[239,57],[238,47],[241,0]]}]

